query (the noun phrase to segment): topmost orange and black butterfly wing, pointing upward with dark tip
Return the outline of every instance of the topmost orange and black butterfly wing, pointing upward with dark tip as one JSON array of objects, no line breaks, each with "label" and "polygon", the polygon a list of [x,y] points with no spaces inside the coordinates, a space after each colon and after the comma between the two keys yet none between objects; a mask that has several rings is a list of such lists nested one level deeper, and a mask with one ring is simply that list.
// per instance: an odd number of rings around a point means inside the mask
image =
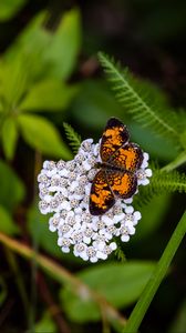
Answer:
[{"label": "topmost orange and black butterfly wing, pointing upward with dark tip", "polygon": [[107,162],[118,148],[124,145],[130,139],[127,128],[116,118],[107,121],[102,135],[100,154],[103,162]]}]

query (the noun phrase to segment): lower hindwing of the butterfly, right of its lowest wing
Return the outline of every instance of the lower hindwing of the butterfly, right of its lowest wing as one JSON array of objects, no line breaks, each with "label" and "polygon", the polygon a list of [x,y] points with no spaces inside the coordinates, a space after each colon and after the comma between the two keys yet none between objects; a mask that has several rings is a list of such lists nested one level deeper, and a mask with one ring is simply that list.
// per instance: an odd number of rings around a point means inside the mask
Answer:
[{"label": "lower hindwing of the butterfly, right of its lowest wing", "polygon": [[137,178],[133,172],[108,170],[106,179],[112,192],[117,198],[128,199],[136,192]]}]

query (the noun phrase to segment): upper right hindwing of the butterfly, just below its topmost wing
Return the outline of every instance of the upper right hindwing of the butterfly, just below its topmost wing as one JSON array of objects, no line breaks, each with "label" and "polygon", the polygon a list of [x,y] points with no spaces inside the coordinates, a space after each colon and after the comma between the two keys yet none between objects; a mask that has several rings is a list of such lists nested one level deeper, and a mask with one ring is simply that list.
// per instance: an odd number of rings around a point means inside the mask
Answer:
[{"label": "upper right hindwing of the butterfly, just below its topmost wing", "polygon": [[135,172],[143,162],[143,151],[135,143],[127,143],[118,148],[107,160],[107,163],[121,170]]}]

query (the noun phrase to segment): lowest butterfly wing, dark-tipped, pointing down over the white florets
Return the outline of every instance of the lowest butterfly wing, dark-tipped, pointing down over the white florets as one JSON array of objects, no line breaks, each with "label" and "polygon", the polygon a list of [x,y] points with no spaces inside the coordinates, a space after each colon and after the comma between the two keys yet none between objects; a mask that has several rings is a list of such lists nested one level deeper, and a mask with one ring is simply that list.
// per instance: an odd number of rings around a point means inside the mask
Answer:
[{"label": "lowest butterfly wing, dark-tipped, pointing down over the white florets", "polygon": [[114,194],[107,183],[106,173],[100,170],[93,179],[90,193],[90,213],[102,215],[115,203]]}]

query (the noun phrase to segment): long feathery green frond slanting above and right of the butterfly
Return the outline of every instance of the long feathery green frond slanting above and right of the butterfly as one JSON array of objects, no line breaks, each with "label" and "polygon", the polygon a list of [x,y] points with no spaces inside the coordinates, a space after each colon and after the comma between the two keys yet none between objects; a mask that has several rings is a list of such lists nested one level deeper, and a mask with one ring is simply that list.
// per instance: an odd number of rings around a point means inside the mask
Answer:
[{"label": "long feathery green frond slanting above and right of the butterfly", "polygon": [[99,59],[125,110],[144,127],[151,127],[155,133],[164,134],[179,144],[176,112],[165,107],[166,103],[162,99],[158,103],[155,95],[152,98],[151,88],[137,81],[127,69],[122,70],[113,59],[102,52],[99,53]]}]

